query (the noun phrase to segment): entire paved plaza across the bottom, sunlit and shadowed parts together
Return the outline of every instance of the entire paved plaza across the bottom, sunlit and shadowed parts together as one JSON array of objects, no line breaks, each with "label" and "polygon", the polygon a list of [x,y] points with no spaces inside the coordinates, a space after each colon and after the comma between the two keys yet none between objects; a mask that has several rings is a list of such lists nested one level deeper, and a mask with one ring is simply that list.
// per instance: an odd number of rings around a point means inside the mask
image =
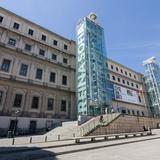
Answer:
[{"label": "entire paved plaza across the bottom, sunlit and shadowed parts together", "polygon": [[[3,147],[0,160],[159,160],[160,131],[152,136],[75,144],[73,140]],[[25,151],[12,151],[13,149]],[[2,153],[5,151],[6,153]]]}]

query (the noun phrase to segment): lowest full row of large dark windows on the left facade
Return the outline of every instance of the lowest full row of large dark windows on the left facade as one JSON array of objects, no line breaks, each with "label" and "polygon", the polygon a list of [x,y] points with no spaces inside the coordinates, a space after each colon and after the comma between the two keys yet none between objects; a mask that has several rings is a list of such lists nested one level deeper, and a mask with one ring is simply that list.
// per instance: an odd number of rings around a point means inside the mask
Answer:
[{"label": "lowest full row of large dark windows on the left facade", "polygon": [[[2,98],[3,98],[3,91],[0,91],[0,105],[2,104]],[[14,101],[13,101],[13,107],[16,108],[21,108],[22,107],[22,100],[23,100],[22,94],[16,94]],[[39,103],[40,102],[40,97],[38,96],[33,96],[32,97],[32,103],[31,103],[31,108],[32,109],[38,109],[39,108]],[[66,112],[67,108],[67,102],[66,100],[61,100],[61,111]],[[53,98],[48,98],[47,101],[47,110],[48,111],[53,111],[54,110],[54,99]]]}]

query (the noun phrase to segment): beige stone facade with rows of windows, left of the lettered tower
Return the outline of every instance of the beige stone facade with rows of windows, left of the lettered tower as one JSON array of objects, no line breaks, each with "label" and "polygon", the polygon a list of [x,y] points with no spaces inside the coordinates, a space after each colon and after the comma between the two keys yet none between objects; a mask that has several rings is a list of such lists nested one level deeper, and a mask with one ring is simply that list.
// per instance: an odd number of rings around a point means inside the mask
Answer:
[{"label": "beige stone facade with rows of windows, left of the lettered tower", "polygon": [[75,119],[75,58],[74,41],[0,8],[0,116]]}]

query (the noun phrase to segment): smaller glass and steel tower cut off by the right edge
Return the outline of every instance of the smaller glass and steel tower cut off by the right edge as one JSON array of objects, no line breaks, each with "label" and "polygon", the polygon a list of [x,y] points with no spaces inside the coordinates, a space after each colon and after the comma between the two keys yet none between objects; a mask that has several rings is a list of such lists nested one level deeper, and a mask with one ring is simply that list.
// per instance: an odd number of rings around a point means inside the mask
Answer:
[{"label": "smaller glass and steel tower cut off by the right edge", "polygon": [[160,66],[156,58],[151,57],[143,62],[145,70],[145,87],[149,100],[149,109],[153,116],[160,115]]}]

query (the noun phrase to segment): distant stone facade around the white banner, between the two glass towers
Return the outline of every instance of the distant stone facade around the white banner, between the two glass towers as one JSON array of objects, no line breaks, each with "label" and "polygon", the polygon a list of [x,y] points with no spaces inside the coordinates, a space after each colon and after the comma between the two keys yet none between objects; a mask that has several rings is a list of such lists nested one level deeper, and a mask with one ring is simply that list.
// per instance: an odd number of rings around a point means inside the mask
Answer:
[{"label": "distant stone facade around the white banner, between the two glass towers", "polygon": [[127,100],[122,98],[120,100],[114,97],[112,101],[113,108],[116,111],[125,112],[130,115],[148,115],[148,101],[143,82],[144,75],[111,59],[108,59],[107,62],[109,79],[113,85],[133,92],[138,102],[135,103],[132,99]]}]

